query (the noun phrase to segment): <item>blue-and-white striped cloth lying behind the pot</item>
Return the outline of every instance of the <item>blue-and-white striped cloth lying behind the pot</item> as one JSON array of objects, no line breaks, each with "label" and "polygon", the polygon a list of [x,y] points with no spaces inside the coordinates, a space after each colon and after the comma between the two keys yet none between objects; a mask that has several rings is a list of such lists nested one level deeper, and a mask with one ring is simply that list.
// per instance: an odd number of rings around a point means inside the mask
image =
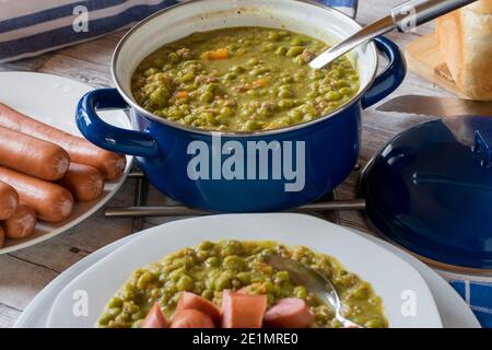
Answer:
[{"label": "blue-and-white striped cloth lying behind the pot", "polygon": [[[33,57],[125,28],[185,0],[0,0],[0,62]],[[358,0],[317,0],[355,15]],[[83,31],[87,19],[91,31]],[[80,26],[78,26],[80,24]],[[74,31],[78,26],[80,31]]]}]

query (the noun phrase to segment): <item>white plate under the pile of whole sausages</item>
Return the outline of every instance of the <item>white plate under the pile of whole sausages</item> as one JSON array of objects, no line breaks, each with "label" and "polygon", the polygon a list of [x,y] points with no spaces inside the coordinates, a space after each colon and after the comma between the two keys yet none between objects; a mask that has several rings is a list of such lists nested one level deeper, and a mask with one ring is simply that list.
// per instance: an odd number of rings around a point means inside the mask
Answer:
[{"label": "white plate under the pile of whole sausages", "polygon": [[[56,75],[32,72],[0,72],[0,102],[25,115],[75,136],[79,100],[93,88]],[[107,122],[131,129],[130,119],[121,110],[105,110],[101,117]],[[103,207],[119,189],[130,171],[132,158],[127,158],[125,174],[117,180],[106,182],[104,195],[91,202],[78,202],[70,218],[59,223],[38,222],[35,233],[24,240],[7,240],[0,254],[19,250],[54,237],[87,219]]]}]

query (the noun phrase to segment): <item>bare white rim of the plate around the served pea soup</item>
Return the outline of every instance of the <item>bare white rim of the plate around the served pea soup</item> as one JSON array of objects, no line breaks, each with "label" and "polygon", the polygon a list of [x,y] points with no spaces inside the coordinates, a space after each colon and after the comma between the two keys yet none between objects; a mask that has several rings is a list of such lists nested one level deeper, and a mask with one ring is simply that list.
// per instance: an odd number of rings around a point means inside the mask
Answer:
[{"label": "bare white rim of the plate around the served pea soup", "polygon": [[390,327],[442,327],[427,285],[409,264],[347,229],[290,213],[211,215],[147,230],[70,282],[55,300],[47,326],[93,327],[133,270],[201,241],[219,240],[272,240],[335,256],[374,287]]}]

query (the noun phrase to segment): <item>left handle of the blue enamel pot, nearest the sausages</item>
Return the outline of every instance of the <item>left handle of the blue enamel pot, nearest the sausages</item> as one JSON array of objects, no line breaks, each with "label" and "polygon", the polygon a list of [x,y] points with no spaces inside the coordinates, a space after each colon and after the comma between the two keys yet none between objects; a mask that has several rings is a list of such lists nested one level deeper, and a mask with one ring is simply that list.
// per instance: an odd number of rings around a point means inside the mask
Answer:
[{"label": "left handle of the blue enamel pot, nearest the sausages", "polygon": [[97,116],[97,109],[125,109],[128,104],[116,89],[86,93],[77,106],[75,121],[80,132],[105,150],[144,158],[161,155],[157,143],[148,133],[114,127]]}]

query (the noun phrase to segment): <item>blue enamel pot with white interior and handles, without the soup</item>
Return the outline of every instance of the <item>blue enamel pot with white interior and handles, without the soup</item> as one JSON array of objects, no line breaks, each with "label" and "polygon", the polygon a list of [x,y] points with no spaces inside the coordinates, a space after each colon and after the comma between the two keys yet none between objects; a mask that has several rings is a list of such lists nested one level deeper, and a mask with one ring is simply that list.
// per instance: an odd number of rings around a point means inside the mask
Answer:
[{"label": "blue enamel pot with white interior and handles, without the soup", "polygon": [[[402,82],[398,47],[380,37],[352,54],[361,79],[358,95],[319,119],[261,132],[210,132],[144,110],[131,95],[139,62],[165,43],[197,31],[233,26],[284,27],[327,43],[360,30],[344,14],[284,0],[202,0],[161,11],[134,26],[113,58],[116,89],[87,93],[77,124],[96,145],[131,154],[161,191],[188,206],[220,212],[278,211],[311,202],[340,185],[359,158],[361,114]],[[388,58],[377,74],[378,55]],[[97,110],[129,108],[133,130],[104,122]]]}]

